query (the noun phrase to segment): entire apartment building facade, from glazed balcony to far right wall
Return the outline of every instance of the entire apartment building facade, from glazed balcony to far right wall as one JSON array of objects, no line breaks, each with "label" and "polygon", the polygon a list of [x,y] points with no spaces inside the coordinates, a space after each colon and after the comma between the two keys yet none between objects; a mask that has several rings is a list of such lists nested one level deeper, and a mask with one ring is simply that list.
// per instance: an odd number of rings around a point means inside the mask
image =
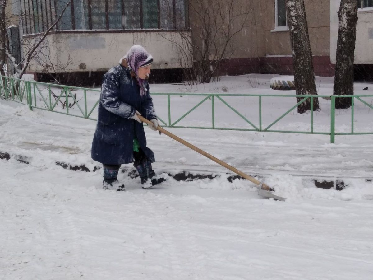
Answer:
[{"label": "entire apartment building facade, from glazed balcony to far right wall", "polygon": [[[51,25],[69,0],[15,0],[13,6],[18,5],[22,13],[22,40],[33,40],[52,28],[28,71],[38,79],[49,72],[79,84],[77,80],[87,78],[99,82],[133,44],[141,44],[154,56],[153,80],[180,80],[182,63],[176,45],[191,36],[195,46],[204,47],[200,11],[192,9],[198,1],[208,0],[73,0],[55,27]],[[314,70],[319,76],[334,75],[339,4],[340,0],[305,0]],[[244,28],[232,38],[228,46],[232,55],[223,59],[220,74],[293,74],[285,0],[234,0],[233,9],[245,10],[247,16],[235,21],[238,26],[245,20]],[[357,69],[363,65],[365,72],[370,71],[372,43],[373,0],[359,0]],[[46,57],[50,64],[63,67],[46,67]],[[197,59],[191,55],[186,65]]]}]

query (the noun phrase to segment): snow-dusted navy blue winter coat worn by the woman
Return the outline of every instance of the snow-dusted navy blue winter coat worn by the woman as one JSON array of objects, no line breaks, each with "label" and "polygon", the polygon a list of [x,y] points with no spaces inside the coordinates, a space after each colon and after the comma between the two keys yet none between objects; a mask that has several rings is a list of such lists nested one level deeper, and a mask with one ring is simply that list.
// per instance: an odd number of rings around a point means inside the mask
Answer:
[{"label": "snow-dusted navy blue winter coat worn by the woman", "polygon": [[149,120],[157,118],[148,83],[145,92],[140,96],[136,79],[122,65],[113,67],[104,75],[92,142],[92,158],[95,161],[102,164],[134,162],[133,141],[136,137],[147,158],[154,162],[154,153],[146,146],[144,126],[129,119],[135,110]]}]

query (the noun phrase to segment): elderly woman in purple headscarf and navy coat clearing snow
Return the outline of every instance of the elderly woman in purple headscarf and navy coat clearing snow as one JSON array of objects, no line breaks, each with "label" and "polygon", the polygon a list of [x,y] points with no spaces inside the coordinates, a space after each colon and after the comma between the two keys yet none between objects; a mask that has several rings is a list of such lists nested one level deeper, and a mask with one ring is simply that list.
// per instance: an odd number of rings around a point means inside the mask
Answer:
[{"label": "elderly woman in purple headscarf and navy coat clearing snow", "polygon": [[92,143],[92,158],[103,164],[104,189],[124,190],[117,174],[121,164],[131,162],[142,188],[157,183],[151,167],[154,153],[146,146],[144,126],[138,117],[149,119],[149,128],[156,131],[158,121],[147,82],[152,62],[153,57],[135,45],[104,75]]}]

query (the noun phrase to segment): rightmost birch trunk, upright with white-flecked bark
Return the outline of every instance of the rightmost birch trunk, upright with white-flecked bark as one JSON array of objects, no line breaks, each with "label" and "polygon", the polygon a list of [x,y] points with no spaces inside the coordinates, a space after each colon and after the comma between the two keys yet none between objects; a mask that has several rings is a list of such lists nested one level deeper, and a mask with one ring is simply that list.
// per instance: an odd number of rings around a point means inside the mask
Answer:
[{"label": "rightmost birch trunk, upright with white-flecked bark", "polygon": [[[338,40],[333,95],[354,94],[354,53],[356,41],[357,1],[341,0],[338,11]],[[335,108],[351,107],[351,98],[336,98]]]}]

